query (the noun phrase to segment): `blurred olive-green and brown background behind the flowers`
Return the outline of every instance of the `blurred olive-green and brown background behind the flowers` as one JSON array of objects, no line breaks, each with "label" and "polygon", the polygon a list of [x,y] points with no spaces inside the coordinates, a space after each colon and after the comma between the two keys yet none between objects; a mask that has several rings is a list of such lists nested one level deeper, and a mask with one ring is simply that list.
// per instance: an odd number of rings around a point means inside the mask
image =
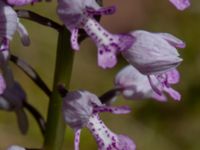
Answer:
[{"label": "blurred olive-green and brown background behind the flowers", "polygon": [[[122,97],[114,105],[129,105],[129,115],[103,114],[102,119],[114,132],[127,134],[134,139],[137,150],[199,150],[200,149],[200,2],[184,12],[177,11],[168,0],[105,0],[104,5],[115,4],[117,12],[102,18],[102,25],[113,33],[126,33],[143,29],[152,32],[169,32],[184,40],[186,49],[180,50],[184,62],[179,67],[181,82],[175,88],[182,94],[180,102],[169,98],[168,102],[154,100],[127,101]],[[56,2],[39,3],[31,9],[43,16],[58,21]],[[27,27],[32,43],[25,48],[16,35],[12,52],[29,64],[52,87],[57,33],[36,23],[21,20]],[[66,39],[68,40],[68,39]],[[87,39],[76,53],[71,89],[87,89],[101,95],[113,87],[113,79],[120,68],[126,65],[119,59],[118,65],[109,70],[97,67],[96,47]],[[12,64],[11,64],[12,65]],[[16,80],[20,81],[28,95],[28,101],[45,116],[48,98],[26,75],[12,65]],[[27,135],[21,135],[15,114],[0,111],[0,149],[18,144],[26,147],[40,147],[43,139],[38,126],[29,115],[30,128]],[[81,149],[96,149],[91,134],[84,130],[81,135]],[[73,131],[66,130],[63,150],[73,150]]]}]

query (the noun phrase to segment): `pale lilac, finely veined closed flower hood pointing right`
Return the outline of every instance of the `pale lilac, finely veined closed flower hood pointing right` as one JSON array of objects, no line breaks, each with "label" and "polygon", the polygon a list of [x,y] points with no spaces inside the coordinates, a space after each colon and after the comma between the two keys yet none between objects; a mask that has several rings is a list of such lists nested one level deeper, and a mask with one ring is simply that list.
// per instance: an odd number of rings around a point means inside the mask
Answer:
[{"label": "pale lilac, finely veined closed flower hood pointing right", "polygon": [[135,42],[122,51],[124,58],[142,74],[159,74],[176,68],[182,59],[176,48],[185,44],[168,33],[150,33],[137,30],[130,33]]}]

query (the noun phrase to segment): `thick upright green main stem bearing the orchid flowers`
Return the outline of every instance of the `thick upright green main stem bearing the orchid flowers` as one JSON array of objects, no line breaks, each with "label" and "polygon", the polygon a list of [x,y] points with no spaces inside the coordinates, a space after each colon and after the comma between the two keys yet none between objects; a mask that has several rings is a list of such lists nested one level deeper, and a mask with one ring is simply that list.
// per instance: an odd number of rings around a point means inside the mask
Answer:
[{"label": "thick upright green main stem bearing the orchid flowers", "polygon": [[63,26],[59,31],[53,92],[49,103],[44,150],[61,150],[63,145],[65,123],[62,117],[62,98],[57,86],[64,83],[66,88],[69,88],[74,55],[69,39],[70,33]]}]

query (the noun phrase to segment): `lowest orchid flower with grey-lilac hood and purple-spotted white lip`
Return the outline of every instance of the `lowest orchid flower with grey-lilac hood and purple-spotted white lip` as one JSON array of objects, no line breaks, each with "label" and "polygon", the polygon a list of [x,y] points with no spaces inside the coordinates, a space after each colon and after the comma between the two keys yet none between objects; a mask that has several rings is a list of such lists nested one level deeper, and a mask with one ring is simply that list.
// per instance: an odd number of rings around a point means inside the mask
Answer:
[{"label": "lowest orchid flower with grey-lilac hood and purple-spotted white lip", "polygon": [[131,139],[110,131],[99,118],[100,112],[126,114],[128,107],[110,107],[101,104],[98,97],[87,91],[69,92],[63,100],[66,123],[75,130],[75,150],[79,149],[81,128],[87,127],[94,136],[99,150],[135,150]]}]

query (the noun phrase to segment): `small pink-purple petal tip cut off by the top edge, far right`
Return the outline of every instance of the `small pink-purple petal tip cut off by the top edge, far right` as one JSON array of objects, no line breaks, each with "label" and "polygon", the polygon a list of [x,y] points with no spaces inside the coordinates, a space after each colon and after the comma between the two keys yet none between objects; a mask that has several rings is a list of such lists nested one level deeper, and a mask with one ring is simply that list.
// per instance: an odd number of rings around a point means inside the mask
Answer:
[{"label": "small pink-purple petal tip cut off by the top edge, far right", "polygon": [[185,10],[190,6],[190,0],[169,0],[178,10]]}]

